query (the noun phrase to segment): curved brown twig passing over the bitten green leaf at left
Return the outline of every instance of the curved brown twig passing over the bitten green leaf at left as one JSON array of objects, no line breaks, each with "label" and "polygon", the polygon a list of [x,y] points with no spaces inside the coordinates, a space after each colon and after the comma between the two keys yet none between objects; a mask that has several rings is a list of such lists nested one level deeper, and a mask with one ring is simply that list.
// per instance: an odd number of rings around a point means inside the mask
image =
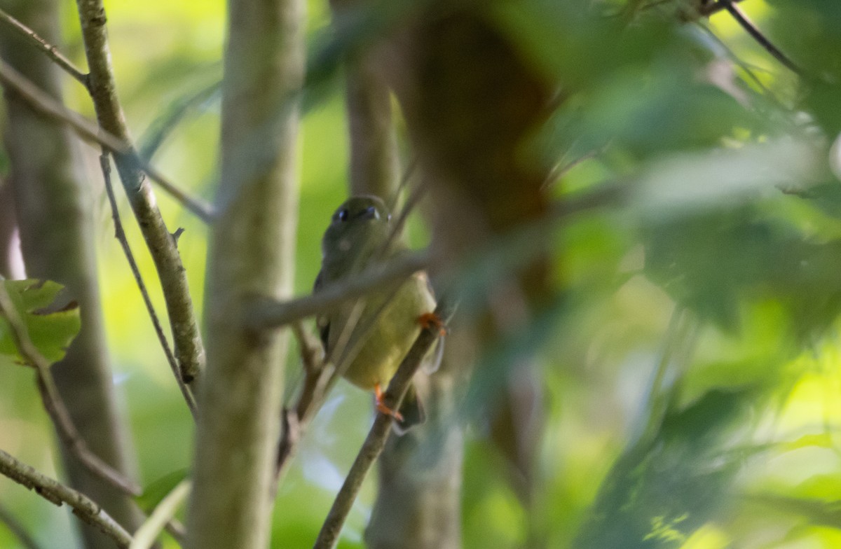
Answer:
[{"label": "curved brown twig passing over the bitten green leaf at left", "polygon": [[102,459],[88,449],[82,436],[79,435],[76,425],[73,425],[70,412],[67,411],[64,401],[61,399],[61,394],[56,387],[56,381],[52,377],[52,372],[50,372],[50,362],[41,355],[38,348],[29,339],[26,325],[23,319],[18,316],[18,311],[14,308],[12,298],[9,296],[6,285],[3,282],[3,277],[0,277],[0,314],[8,322],[10,335],[20,355],[24,357],[26,362],[34,366],[38,372],[38,390],[41,394],[41,399],[44,401],[44,408],[50,414],[50,419],[56,425],[56,431],[64,446],[73,456],[77,457],[79,462],[89,472],[102,478],[124,494],[132,496],[140,495],[142,490],[136,483],[125,478],[121,472],[108,465],[108,463],[103,462]]}]

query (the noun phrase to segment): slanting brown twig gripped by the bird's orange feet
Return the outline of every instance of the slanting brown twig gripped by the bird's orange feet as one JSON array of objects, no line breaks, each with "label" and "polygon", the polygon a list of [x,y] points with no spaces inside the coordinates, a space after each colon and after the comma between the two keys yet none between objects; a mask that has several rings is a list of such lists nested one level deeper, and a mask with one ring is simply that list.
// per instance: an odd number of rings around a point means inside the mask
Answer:
[{"label": "slanting brown twig gripped by the bird's orange feet", "polygon": [[[445,307],[441,302],[436,307],[435,312],[439,316],[442,316],[442,311],[444,310]],[[430,326],[421,330],[421,334],[418,335],[415,343],[411,346],[409,353],[405,356],[403,362],[400,363],[400,367],[394,374],[394,377],[391,378],[389,388],[383,394],[383,404],[389,409],[399,409],[412,377],[415,376],[415,372],[421,366],[426,353],[440,336],[439,330],[440,328],[436,326]],[[385,442],[389,438],[392,421],[394,421],[394,417],[391,415],[378,412],[377,418],[374,420],[373,426],[368,432],[368,437],[362,444],[362,448],[359,450],[350,472],[347,473],[347,477],[345,478],[345,482],[342,483],[339,493],[336,494],[336,499],[333,501],[324,525],[321,526],[321,531],[313,546],[314,549],[332,549],[332,547],[336,546],[341,527],[345,524],[353,502],[357,499],[359,488],[362,488],[362,481],[365,480],[373,462],[382,453]]]}]

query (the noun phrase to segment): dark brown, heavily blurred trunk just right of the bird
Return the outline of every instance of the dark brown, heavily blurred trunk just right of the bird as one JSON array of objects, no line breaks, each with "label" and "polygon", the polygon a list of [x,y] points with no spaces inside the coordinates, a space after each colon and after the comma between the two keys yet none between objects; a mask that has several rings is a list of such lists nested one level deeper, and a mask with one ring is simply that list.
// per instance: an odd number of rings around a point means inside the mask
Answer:
[{"label": "dark brown, heavily blurred trunk just right of the bird", "polygon": [[[435,203],[439,251],[459,261],[500,235],[543,219],[548,177],[530,156],[550,113],[553,89],[481,4],[431,8],[395,33],[389,83],[400,99],[421,172]],[[548,235],[536,241],[549,249]],[[495,273],[486,300],[471,311],[480,349],[488,349],[553,300],[547,253]],[[456,365],[454,365],[456,366]],[[467,367],[466,364],[458,367]],[[528,356],[510,362],[507,383],[486,410],[491,436],[510,465],[526,508],[542,424],[541,388]],[[527,512],[527,511],[526,511]]]}]

